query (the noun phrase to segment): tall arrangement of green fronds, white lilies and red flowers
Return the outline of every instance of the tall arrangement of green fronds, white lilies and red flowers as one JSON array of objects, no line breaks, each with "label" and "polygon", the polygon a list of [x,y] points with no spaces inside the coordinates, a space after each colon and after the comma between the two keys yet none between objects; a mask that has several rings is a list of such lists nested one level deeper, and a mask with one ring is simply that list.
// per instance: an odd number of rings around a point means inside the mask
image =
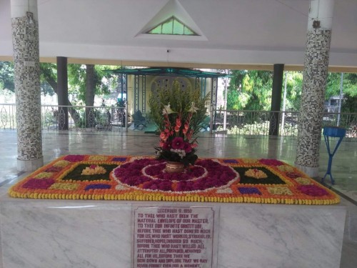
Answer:
[{"label": "tall arrangement of green fronds, white lilies and red flowers", "polygon": [[205,119],[208,95],[201,96],[199,89],[188,85],[185,88],[178,81],[171,86],[157,86],[149,97],[151,119],[160,131],[159,159],[182,162],[185,166],[194,164],[196,134]]}]

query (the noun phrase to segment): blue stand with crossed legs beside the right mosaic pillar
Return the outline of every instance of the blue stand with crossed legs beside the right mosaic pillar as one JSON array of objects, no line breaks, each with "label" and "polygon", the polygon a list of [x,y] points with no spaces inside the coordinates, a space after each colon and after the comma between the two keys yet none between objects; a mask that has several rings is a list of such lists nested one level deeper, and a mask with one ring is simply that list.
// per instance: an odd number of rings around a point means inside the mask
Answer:
[{"label": "blue stand with crossed legs beside the right mosaic pillar", "polygon": [[[343,137],[345,137],[345,135],[346,135],[346,129],[343,129],[338,126],[325,126],[323,128],[323,137],[325,138],[327,152],[328,152],[328,167],[327,167],[327,172],[326,172],[325,176],[321,180],[322,182],[326,178],[327,175],[330,175],[331,183],[335,184],[335,180],[333,179],[332,174],[331,174],[332,157],[336,153],[336,151],[337,151],[338,147],[340,146],[342,139],[343,139]],[[338,138],[338,142],[337,142],[336,147],[333,150],[332,154],[331,154],[331,149],[330,149],[330,140],[328,139],[328,137]]]}]

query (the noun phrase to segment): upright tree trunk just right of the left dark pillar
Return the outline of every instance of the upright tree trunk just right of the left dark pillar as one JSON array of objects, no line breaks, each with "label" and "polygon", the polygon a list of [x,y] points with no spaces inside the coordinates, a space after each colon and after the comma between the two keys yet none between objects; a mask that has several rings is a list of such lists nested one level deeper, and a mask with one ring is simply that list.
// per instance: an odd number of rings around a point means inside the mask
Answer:
[{"label": "upright tree trunk just right of the left dark pillar", "polygon": [[[94,87],[95,87],[94,65],[86,64],[86,106],[94,106]],[[86,126],[94,127],[95,114],[93,108],[86,108]]]}]

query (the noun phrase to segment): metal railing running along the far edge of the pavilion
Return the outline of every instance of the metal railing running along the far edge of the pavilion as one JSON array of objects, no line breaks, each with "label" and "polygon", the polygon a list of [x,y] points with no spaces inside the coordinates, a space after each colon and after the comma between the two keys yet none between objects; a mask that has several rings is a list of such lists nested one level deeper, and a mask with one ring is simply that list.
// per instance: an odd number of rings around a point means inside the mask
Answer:
[{"label": "metal railing running along the far edge of the pavilion", "polygon": [[[41,106],[43,129],[127,131],[127,106]],[[225,131],[231,135],[296,137],[298,111],[225,111],[213,110],[203,130]],[[224,119],[226,114],[226,119]],[[212,120],[211,120],[212,118]],[[341,126],[347,129],[346,137],[357,138],[357,113],[329,113],[323,115],[323,126]],[[0,129],[16,129],[16,105],[0,104]]]}]

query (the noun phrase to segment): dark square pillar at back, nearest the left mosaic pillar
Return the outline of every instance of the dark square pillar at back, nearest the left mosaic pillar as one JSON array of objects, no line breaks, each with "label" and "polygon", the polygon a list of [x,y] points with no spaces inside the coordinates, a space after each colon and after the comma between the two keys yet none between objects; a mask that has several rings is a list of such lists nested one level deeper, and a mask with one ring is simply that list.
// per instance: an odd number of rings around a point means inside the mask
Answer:
[{"label": "dark square pillar at back, nearest the left mosaic pillar", "polygon": [[59,101],[59,112],[57,120],[59,130],[68,130],[68,74],[67,58],[57,57],[57,98]]}]

